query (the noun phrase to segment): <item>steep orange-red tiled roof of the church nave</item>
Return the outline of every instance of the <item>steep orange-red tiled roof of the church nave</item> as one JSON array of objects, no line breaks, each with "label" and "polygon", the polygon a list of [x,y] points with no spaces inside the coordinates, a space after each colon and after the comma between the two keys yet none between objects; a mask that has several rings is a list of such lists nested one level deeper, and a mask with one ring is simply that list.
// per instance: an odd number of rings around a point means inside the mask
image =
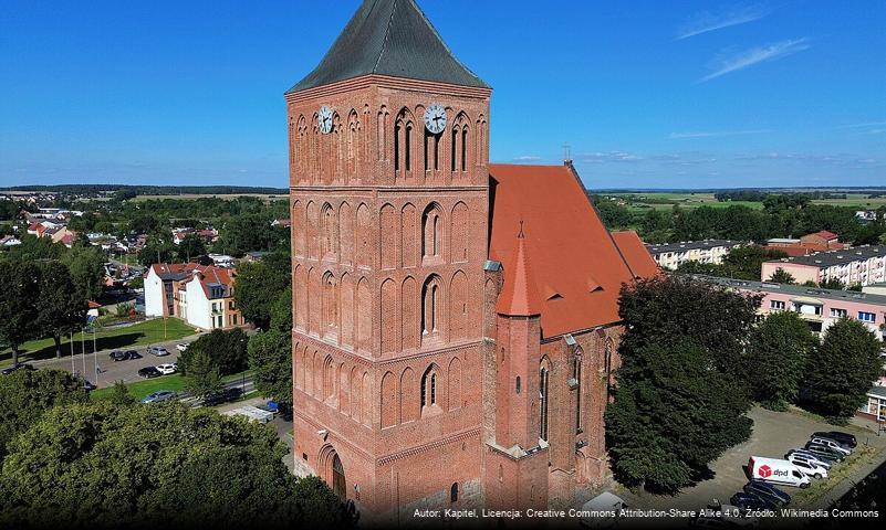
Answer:
[{"label": "steep orange-red tiled roof of the church nave", "polygon": [[[523,221],[524,245],[531,251],[523,251],[525,269],[531,271],[535,292],[544,297],[540,301],[543,336],[617,322],[622,284],[650,269],[643,259],[628,258],[638,264],[632,274],[572,168],[494,163],[489,172],[489,257],[503,265],[504,293],[518,289],[517,234]],[[627,254],[634,256],[635,251]]]}]

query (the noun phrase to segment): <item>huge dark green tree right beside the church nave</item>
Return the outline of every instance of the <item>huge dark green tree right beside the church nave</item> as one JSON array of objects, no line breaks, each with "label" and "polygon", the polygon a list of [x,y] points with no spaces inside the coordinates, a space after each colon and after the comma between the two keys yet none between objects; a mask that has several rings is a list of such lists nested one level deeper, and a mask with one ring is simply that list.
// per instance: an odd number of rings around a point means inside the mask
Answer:
[{"label": "huge dark green tree right beside the church nave", "polygon": [[616,478],[674,492],[750,433],[741,357],[759,297],[674,275],[624,286],[606,444]]}]

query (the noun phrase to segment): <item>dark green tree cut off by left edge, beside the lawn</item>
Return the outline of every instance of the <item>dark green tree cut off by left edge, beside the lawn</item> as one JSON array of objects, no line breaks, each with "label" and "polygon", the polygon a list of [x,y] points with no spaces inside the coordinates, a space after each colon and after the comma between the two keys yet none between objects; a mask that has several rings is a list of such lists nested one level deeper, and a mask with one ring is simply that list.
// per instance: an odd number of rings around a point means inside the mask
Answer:
[{"label": "dark green tree cut off by left edge, beside the lawn", "polygon": [[19,347],[38,333],[37,300],[40,268],[31,262],[0,259],[0,342],[12,349],[12,364],[19,363]]}]

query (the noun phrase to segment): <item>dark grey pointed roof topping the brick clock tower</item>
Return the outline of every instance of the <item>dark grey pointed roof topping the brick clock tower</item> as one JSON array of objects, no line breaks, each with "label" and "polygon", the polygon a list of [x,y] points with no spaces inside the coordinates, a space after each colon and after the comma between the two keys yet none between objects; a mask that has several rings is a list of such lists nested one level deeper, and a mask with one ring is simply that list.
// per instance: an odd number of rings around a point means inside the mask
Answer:
[{"label": "dark grey pointed roof topping the brick clock tower", "polygon": [[286,94],[367,74],[489,87],[452,55],[414,0],[364,0],[320,65]]}]

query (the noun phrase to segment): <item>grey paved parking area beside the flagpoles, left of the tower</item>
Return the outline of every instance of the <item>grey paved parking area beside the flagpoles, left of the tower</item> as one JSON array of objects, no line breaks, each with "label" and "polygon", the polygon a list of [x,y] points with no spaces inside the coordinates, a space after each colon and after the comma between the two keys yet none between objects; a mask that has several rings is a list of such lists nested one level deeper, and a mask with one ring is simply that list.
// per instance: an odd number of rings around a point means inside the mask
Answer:
[{"label": "grey paved parking area beside the flagpoles, left of the tower", "polygon": [[[136,350],[142,353],[142,359],[133,359],[128,361],[117,361],[114,362],[111,359],[110,353],[114,350],[98,350],[97,354],[91,353],[92,340],[86,339],[86,351],[85,356],[74,356],[73,359],[73,367],[72,367],[72,359],[71,354],[62,354],[61,359],[45,359],[41,361],[29,361],[30,364],[33,364],[35,368],[42,369],[55,369],[55,370],[65,370],[67,372],[74,372],[77,374],[85,374],[85,379],[98,385],[100,389],[105,386],[113,386],[115,381],[123,381],[125,383],[132,383],[135,381],[142,381],[142,378],[138,377],[138,370],[145,367],[156,367],[157,364],[164,364],[167,362],[176,362],[178,361],[178,350],[176,349],[176,344],[179,342],[192,342],[197,340],[200,335],[192,335],[190,337],[185,337],[184,339],[178,340],[169,340],[165,342],[157,342],[150,346],[161,346],[166,348],[169,352],[168,356],[165,357],[154,357],[147,353],[147,346],[135,346],[135,347],[126,347],[119,348],[119,350]],[[98,364],[98,373],[96,377],[95,365]]]}]

